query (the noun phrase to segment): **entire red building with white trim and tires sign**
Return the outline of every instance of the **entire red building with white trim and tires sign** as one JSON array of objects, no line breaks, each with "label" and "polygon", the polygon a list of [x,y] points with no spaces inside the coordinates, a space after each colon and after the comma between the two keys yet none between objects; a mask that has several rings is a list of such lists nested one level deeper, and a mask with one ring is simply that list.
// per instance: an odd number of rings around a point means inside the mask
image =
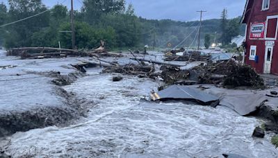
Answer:
[{"label": "entire red building with white trim and tires sign", "polygon": [[247,25],[245,63],[258,73],[278,75],[278,0],[247,0],[242,23]]}]

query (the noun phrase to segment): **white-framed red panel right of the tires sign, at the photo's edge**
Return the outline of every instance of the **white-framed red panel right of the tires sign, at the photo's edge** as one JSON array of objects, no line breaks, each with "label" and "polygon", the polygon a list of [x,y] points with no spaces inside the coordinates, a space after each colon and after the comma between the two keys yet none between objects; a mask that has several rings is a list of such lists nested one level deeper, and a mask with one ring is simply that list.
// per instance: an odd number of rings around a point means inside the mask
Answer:
[{"label": "white-framed red panel right of the tires sign, at the photo's edge", "polygon": [[268,23],[268,27],[266,29],[266,35],[265,37],[267,39],[271,39],[271,40],[276,40],[277,39],[277,19],[278,17],[275,18],[268,18],[267,19],[267,23]]}]

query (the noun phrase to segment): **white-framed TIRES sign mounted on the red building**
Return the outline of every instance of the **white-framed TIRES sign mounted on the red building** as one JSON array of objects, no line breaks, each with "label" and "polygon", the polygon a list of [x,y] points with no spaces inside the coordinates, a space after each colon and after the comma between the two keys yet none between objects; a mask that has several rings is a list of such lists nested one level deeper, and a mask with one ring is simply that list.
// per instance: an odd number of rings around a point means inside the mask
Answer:
[{"label": "white-framed TIRES sign mounted on the red building", "polygon": [[265,37],[265,22],[251,24],[250,39],[263,39]]}]

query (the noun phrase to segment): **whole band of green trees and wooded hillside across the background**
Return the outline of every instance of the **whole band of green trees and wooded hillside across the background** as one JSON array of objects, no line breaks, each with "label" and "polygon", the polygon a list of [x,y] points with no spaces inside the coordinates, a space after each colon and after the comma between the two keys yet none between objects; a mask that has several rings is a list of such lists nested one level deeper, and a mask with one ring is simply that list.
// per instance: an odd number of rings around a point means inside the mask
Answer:
[{"label": "whole band of green trees and wooded hillside across the background", "polygon": [[[3,26],[32,15],[36,17]],[[100,40],[109,49],[143,47],[196,46],[193,42],[199,21],[149,20],[137,17],[131,4],[124,0],[84,0],[83,7],[74,11],[76,48],[92,49]],[[240,17],[227,19],[224,10],[221,19],[202,22],[202,45],[204,37],[229,44],[231,37],[244,35]],[[8,0],[8,6],[0,4],[0,46],[51,46],[72,48],[70,10],[63,4],[48,9],[41,0]],[[188,38],[186,40],[185,37]],[[184,41],[183,41],[184,40]],[[182,42],[183,41],[183,42]],[[197,41],[197,40],[196,40]]]}]

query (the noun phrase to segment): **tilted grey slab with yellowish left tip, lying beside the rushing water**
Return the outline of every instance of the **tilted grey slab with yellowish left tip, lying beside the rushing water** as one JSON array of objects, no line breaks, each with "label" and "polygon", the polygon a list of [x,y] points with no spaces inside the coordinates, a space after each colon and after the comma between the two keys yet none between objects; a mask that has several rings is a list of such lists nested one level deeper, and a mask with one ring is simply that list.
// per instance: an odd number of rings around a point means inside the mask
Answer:
[{"label": "tilted grey slab with yellowish left tip, lying beside the rushing water", "polygon": [[151,96],[152,100],[193,100],[202,105],[213,105],[213,107],[219,103],[219,98],[216,96],[199,89],[180,85],[172,85]]}]

